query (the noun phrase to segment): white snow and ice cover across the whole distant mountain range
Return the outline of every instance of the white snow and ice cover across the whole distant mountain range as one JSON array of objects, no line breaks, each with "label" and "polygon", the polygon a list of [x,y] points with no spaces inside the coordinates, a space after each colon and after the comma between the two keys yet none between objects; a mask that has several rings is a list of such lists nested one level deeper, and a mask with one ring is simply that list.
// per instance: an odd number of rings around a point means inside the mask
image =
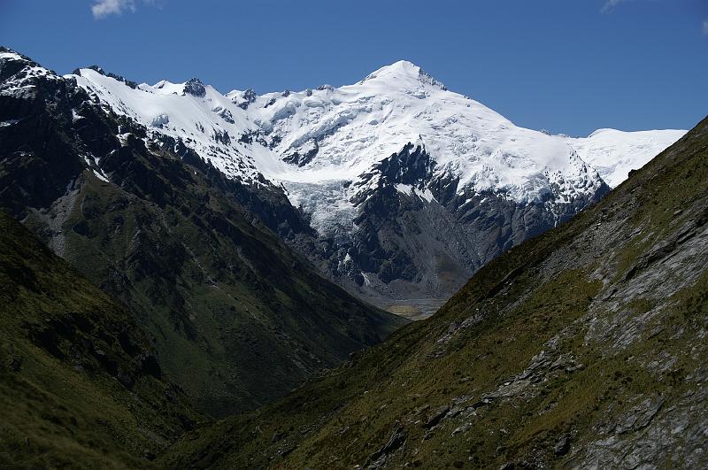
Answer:
[{"label": "white snow and ice cover across the whole distant mountain range", "polygon": [[616,186],[685,133],[547,135],[515,126],[406,61],[354,85],[262,96],[224,96],[196,79],[132,89],[89,69],[75,78],[114,112],[181,139],[228,177],[258,181],[261,173],[282,185],[316,225],[323,221],[320,231],[334,227],[332,214],[340,214],[335,226],[351,227],[350,183],[407,143],[422,143],[436,175],[458,178],[460,192],[563,203],[592,194],[603,180]]}]

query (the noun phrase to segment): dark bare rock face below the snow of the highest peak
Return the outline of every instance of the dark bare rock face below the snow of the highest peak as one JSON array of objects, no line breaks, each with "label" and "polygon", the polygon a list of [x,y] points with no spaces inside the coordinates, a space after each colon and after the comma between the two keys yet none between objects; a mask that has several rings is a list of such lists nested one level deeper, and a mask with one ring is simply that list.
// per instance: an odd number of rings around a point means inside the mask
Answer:
[{"label": "dark bare rock face below the snow of the highest peak", "polygon": [[[496,191],[461,188],[458,176],[435,170],[425,147],[408,143],[359,176],[351,185],[355,228],[329,245],[337,279],[373,298],[446,297],[489,260],[610,190],[591,182],[595,190],[564,199],[554,183],[539,200],[519,204]],[[582,171],[592,181],[592,170]]]}]

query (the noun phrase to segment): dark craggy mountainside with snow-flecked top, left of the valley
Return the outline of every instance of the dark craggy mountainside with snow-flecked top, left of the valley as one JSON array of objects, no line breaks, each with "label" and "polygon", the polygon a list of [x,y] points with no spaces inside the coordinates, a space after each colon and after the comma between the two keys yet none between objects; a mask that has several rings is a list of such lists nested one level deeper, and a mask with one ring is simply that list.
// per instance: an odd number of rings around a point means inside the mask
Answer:
[{"label": "dark craggy mountainside with snow-flecked top, left of the valley", "polygon": [[281,189],[227,179],[9,50],[0,123],[0,207],[135,312],[205,412],[281,397],[404,323],[282,242],[311,229]]}]

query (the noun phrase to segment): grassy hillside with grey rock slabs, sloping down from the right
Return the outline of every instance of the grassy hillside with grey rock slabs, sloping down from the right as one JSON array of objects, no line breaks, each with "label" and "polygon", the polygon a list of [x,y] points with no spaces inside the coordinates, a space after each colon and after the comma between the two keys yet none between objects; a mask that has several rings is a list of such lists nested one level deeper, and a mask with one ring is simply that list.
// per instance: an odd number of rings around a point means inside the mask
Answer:
[{"label": "grassy hillside with grey rock slabs, sloping down from the right", "polygon": [[428,320],[171,466],[708,465],[708,119]]}]

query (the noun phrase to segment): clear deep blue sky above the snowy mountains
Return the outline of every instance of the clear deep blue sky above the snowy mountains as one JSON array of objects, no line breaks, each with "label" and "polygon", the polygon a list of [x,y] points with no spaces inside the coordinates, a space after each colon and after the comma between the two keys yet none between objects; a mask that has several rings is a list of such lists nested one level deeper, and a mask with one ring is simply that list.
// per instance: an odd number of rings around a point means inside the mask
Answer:
[{"label": "clear deep blue sky above the snowy mountains", "polygon": [[408,59],[516,124],[688,128],[708,0],[0,0],[0,44],[69,73],[222,92],[343,85]]}]

